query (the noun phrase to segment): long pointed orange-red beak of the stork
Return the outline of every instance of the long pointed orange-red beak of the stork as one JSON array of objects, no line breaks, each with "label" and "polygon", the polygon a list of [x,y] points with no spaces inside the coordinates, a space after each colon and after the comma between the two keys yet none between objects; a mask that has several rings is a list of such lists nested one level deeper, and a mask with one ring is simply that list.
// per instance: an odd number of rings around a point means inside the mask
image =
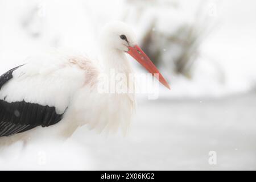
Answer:
[{"label": "long pointed orange-red beak of the stork", "polygon": [[[129,47],[129,51],[127,51],[129,55],[131,55],[135,60],[137,60],[139,63],[143,65],[144,68],[147,69],[148,72],[151,74],[159,74],[158,80],[166,86],[168,89],[171,89],[167,81],[164,79],[164,77],[161,75],[161,73],[158,71],[158,69],[155,67],[154,63],[149,59],[149,57],[142,51],[142,49],[139,46]],[[155,75],[154,75],[155,76]],[[157,77],[156,77],[157,78]]]}]

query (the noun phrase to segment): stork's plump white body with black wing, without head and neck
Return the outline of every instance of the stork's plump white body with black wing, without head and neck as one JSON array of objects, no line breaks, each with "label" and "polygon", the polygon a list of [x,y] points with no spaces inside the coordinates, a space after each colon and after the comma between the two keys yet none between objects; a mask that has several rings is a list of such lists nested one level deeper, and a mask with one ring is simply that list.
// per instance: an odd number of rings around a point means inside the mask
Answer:
[{"label": "stork's plump white body with black wing, without head and neck", "polygon": [[[15,134],[26,129],[35,132],[40,129],[37,126],[57,125],[56,133],[60,137],[69,137],[85,124],[98,131],[117,130],[120,125],[126,132],[134,94],[98,93],[97,77],[104,71],[86,57],[51,55],[44,60],[37,58],[9,71],[11,78],[0,90],[0,143],[19,139]],[[6,120],[10,126],[6,127]],[[13,127],[17,123],[22,126]],[[30,132],[19,136],[28,137],[27,134]]]}]

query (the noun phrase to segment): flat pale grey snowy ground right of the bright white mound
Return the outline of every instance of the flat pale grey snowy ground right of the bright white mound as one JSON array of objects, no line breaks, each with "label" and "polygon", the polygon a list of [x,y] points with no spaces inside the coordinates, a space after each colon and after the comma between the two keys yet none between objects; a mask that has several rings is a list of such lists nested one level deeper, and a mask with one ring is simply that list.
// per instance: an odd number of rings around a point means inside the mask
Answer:
[{"label": "flat pale grey snowy ground right of the bright white mound", "polygon": [[[126,138],[74,136],[93,151],[96,169],[256,169],[256,94],[221,100],[139,103]],[[86,136],[81,139],[82,136]],[[217,164],[209,165],[209,151]]]}]

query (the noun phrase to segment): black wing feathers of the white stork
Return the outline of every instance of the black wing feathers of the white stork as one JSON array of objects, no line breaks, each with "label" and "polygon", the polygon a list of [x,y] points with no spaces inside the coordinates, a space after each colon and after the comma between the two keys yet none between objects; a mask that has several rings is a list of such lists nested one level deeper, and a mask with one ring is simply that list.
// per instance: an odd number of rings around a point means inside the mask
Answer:
[{"label": "black wing feathers of the white stork", "polygon": [[[19,67],[22,67],[22,65]],[[13,78],[13,72],[19,67],[13,68],[0,76],[0,92],[2,86]],[[55,125],[61,121],[63,114],[57,114],[55,107],[25,101],[9,103],[0,100],[0,137],[9,137],[37,126]]]}]

